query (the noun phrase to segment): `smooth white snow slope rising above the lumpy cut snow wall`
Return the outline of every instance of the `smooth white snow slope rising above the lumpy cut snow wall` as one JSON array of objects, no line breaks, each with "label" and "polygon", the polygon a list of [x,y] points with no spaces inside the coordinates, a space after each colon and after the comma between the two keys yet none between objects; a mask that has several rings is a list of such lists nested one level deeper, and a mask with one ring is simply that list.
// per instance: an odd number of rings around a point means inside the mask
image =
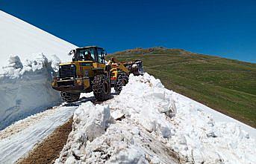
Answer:
[{"label": "smooth white snow slope rising above the lumpy cut snow wall", "polygon": [[76,47],[69,42],[40,30],[27,22],[0,10],[0,73],[10,54],[19,55],[22,62],[33,53],[57,55],[61,60],[71,59],[69,50]]}]

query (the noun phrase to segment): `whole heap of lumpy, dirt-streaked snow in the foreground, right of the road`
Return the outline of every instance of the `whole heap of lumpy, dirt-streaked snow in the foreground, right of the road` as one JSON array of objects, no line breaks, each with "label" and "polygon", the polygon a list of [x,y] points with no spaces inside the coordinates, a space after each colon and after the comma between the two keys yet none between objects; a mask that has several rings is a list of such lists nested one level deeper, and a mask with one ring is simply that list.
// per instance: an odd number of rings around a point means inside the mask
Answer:
[{"label": "whole heap of lumpy, dirt-streaked snow in the foreground, right of the road", "polygon": [[145,73],[104,105],[81,105],[55,163],[256,163],[255,147],[239,124],[216,122]]}]

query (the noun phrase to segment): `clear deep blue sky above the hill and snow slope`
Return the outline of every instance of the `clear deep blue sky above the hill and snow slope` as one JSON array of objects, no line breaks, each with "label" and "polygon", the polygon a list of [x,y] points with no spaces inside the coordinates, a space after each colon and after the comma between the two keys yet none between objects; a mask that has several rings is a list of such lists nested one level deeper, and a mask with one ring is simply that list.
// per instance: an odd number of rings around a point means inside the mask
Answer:
[{"label": "clear deep blue sky above the hill and snow slope", "polygon": [[0,10],[78,46],[176,47],[256,62],[256,1],[15,1]]}]

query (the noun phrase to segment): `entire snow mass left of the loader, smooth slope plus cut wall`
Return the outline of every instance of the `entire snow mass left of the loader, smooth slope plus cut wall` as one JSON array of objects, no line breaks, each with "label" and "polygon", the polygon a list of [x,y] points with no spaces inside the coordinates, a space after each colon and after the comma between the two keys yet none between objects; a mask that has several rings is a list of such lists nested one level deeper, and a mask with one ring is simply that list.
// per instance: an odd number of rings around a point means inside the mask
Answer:
[{"label": "entire snow mass left of the loader, smooth slope plus cut wall", "polygon": [[0,130],[59,102],[50,73],[75,47],[0,10]]}]

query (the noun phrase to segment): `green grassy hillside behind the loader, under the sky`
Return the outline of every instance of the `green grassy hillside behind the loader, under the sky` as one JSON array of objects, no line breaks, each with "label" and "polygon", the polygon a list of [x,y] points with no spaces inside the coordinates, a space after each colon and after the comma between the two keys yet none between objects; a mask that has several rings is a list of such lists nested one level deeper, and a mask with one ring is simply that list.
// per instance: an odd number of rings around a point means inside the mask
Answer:
[{"label": "green grassy hillside behind the loader, under the sky", "polygon": [[111,56],[142,59],[146,72],[166,88],[256,127],[256,64],[161,47]]}]

